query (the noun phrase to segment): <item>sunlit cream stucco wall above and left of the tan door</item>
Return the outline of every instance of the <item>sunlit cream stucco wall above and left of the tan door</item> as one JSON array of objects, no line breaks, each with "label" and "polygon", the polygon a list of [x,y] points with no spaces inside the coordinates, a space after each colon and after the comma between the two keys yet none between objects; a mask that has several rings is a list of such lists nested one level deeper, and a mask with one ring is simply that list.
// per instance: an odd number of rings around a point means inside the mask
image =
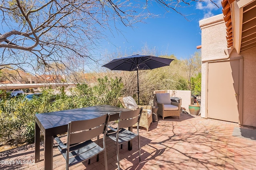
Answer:
[{"label": "sunlit cream stucco wall above and left of the tan door", "polygon": [[226,57],[224,49],[227,48],[226,25],[223,14],[199,21],[202,30],[202,92],[201,117],[206,117],[206,62],[204,60]]}]

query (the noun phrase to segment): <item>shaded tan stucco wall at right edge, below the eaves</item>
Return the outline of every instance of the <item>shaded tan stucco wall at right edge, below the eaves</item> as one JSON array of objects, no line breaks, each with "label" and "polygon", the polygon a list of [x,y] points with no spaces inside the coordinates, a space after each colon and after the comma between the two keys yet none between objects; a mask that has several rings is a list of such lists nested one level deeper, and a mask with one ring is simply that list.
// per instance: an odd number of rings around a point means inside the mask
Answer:
[{"label": "shaded tan stucco wall at right edge, below the eaves", "polygon": [[256,127],[256,47],[243,56],[243,125]]}]

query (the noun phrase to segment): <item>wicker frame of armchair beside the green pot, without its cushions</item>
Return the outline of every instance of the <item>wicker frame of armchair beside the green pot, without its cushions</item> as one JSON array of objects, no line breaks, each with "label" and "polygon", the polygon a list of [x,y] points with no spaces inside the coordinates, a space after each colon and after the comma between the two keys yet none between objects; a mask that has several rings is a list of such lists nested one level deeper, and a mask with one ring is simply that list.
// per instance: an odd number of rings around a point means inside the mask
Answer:
[{"label": "wicker frame of armchair beside the green pot, without its cushions", "polygon": [[168,117],[168,116],[178,116],[178,118],[180,119],[180,103],[170,101],[171,105],[177,106],[178,108],[175,110],[166,110],[164,109],[165,104],[159,103],[157,101],[156,94],[154,94],[154,103],[156,103],[158,106],[157,114],[162,116],[163,120],[164,120],[164,117]]}]

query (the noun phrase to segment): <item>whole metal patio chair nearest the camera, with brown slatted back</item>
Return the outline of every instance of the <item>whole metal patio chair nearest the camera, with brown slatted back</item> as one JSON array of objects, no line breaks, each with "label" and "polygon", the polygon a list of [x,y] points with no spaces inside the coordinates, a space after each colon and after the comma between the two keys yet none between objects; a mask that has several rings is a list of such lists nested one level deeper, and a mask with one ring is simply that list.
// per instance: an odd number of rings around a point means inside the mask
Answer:
[{"label": "whole metal patio chair nearest the camera, with brown slatted back", "polygon": [[[59,137],[54,137],[59,144],[58,149],[66,159],[66,170],[70,166],[89,160],[103,151],[105,169],[108,169],[105,138],[109,117],[110,113],[94,119],[69,122],[66,144],[62,143]],[[103,148],[91,140],[101,133],[103,133]]]}]

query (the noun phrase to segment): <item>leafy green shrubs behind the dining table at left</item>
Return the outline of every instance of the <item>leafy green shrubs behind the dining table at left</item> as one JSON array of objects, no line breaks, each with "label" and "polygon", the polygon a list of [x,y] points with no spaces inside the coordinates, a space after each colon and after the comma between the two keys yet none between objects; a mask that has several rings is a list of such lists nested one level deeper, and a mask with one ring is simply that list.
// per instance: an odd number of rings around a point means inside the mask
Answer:
[{"label": "leafy green shrubs behind the dining table at left", "polygon": [[54,94],[52,88],[45,88],[42,95],[32,100],[24,96],[2,98],[0,100],[0,138],[2,140],[19,139],[34,142],[35,114],[95,105],[120,105],[118,97],[123,90],[120,78],[98,79],[98,84],[78,84],[67,96],[64,90]]}]

